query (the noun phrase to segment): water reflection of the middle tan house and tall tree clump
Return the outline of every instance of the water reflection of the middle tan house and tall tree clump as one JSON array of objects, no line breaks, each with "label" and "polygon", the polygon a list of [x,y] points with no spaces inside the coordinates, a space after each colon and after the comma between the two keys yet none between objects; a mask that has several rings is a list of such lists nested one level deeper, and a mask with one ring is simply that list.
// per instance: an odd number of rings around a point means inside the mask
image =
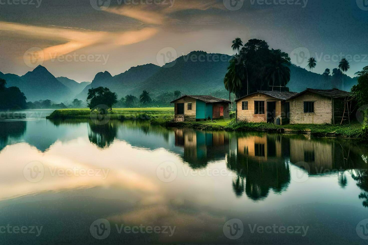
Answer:
[{"label": "water reflection of the middle tan house and tall tree clump", "polygon": [[[283,151],[283,145],[286,149]],[[265,133],[247,134],[237,138],[237,150],[231,152],[227,167],[237,173],[233,190],[253,200],[264,199],[269,191],[280,193],[289,186],[289,139]],[[244,184],[245,183],[245,184]]]}]

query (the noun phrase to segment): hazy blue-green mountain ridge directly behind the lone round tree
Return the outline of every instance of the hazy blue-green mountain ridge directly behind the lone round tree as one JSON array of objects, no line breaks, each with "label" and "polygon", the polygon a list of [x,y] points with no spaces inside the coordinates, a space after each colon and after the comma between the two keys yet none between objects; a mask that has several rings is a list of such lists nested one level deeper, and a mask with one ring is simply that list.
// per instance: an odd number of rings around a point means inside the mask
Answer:
[{"label": "hazy blue-green mountain ridge directly behind the lone round tree", "polygon": [[[96,74],[92,83],[78,94],[79,100],[86,100],[88,89],[96,87],[108,87],[111,91],[118,94],[118,98],[125,97],[127,94],[139,96],[136,92],[137,86],[143,86],[145,80],[159,71],[160,66],[153,64],[139,65],[130,68],[128,71],[112,76],[109,72],[99,72]],[[144,87],[144,86],[143,86]],[[142,93],[142,91],[141,91]]]}]

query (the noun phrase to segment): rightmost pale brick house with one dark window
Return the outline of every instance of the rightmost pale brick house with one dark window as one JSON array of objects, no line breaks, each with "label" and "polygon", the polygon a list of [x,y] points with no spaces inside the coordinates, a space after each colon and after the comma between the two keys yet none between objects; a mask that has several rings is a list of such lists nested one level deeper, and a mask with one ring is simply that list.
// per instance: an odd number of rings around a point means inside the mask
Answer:
[{"label": "rightmost pale brick house with one dark window", "polygon": [[306,89],[289,98],[290,123],[340,124],[350,120],[351,93],[339,89]]}]

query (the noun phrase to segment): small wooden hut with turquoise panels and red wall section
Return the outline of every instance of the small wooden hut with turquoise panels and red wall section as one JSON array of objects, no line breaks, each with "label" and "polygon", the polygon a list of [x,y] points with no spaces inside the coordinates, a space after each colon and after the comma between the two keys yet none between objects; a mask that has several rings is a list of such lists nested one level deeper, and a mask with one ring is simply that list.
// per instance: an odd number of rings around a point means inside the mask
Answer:
[{"label": "small wooden hut with turquoise panels and red wall section", "polygon": [[231,101],[208,95],[184,95],[171,103],[175,104],[174,120],[184,122],[229,118]]}]

